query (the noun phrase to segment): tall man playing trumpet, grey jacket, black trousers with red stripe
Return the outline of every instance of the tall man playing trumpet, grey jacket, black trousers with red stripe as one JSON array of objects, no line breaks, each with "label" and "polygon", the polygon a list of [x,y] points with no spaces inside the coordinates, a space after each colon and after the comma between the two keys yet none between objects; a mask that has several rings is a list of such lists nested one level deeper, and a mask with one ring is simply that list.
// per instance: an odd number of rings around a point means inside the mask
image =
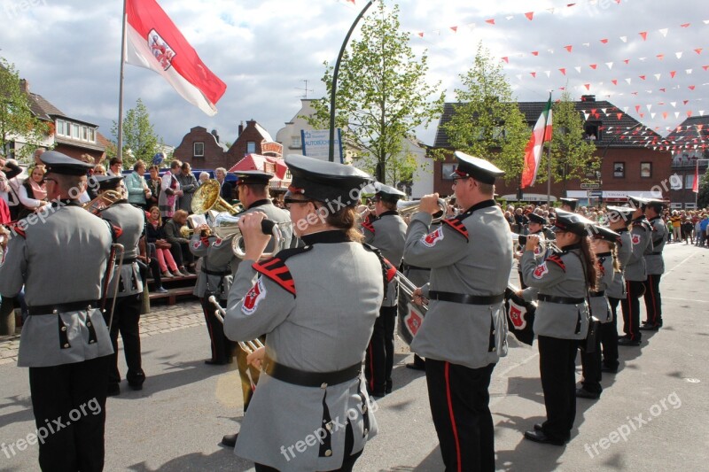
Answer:
[{"label": "tall man playing trumpet, grey jacket, black trousers with red stripe", "polygon": [[[411,217],[404,259],[431,267],[415,295],[430,300],[411,350],[425,357],[426,384],[447,470],[495,470],[490,377],[507,351],[504,290],[512,268],[510,225],[495,204],[503,171],[456,151],[451,176],[464,209],[429,233],[438,194],[421,198]],[[426,234],[428,233],[428,234]],[[501,352],[503,351],[503,352]]]}]

